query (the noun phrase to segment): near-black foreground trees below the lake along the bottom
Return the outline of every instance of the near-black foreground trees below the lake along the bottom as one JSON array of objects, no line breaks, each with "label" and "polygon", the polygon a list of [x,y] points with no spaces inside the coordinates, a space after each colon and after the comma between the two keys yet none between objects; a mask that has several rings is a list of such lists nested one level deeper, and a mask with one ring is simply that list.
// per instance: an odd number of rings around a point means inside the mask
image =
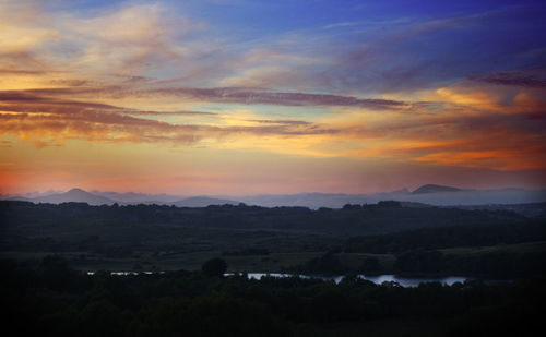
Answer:
[{"label": "near-black foreground trees below the lake along the bottom", "polygon": [[57,256],[0,267],[10,336],[526,336],[546,309],[546,279],[402,288],[351,277],[85,275]]}]

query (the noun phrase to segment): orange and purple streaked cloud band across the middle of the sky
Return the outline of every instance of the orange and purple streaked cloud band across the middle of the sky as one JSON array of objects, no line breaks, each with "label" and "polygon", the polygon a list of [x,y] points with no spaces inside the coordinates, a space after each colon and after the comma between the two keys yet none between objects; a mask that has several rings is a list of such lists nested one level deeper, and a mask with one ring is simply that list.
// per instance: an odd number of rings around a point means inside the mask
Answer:
[{"label": "orange and purple streaked cloud band across the middle of the sky", "polygon": [[[0,131],[35,142],[40,147],[75,139],[107,143],[163,142],[497,169],[544,167],[544,148],[536,144],[546,143],[543,134],[546,118],[542,112],[545,105],[541,106],[524,93],[502,105],[501,95],[490,96],[479,89],[456,85],[437,89],[434,92],[437,96],[429,98],[444,100],[436,101],[360,99],[238,87],[74,86],[3,91],[0,92]],[[249,104],[251,108],[246,113],[157,111],[84,99],[103,95],[117,99],[173,96],[198,103]],[[328,107],[332,110],[328,117],[317,120],[312,113],[308,115],[309,120],[264,118],[252,112],[256,105],[282,109],[310,107],[311,111],[314,107]],[[512,113],[514,111],[518,113]],[[179,119],[173,120],[174,117]]]}]

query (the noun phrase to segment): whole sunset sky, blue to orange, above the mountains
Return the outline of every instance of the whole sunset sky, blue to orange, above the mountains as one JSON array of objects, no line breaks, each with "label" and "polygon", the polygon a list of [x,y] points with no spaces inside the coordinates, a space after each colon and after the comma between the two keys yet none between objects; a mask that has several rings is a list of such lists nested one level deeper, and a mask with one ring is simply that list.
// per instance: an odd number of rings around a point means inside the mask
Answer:
[{"label": "whole sunset sky, blue to orange, above the mountains", "polygon": [[544,1],[0,0],[0,193],[546,188]]}]

